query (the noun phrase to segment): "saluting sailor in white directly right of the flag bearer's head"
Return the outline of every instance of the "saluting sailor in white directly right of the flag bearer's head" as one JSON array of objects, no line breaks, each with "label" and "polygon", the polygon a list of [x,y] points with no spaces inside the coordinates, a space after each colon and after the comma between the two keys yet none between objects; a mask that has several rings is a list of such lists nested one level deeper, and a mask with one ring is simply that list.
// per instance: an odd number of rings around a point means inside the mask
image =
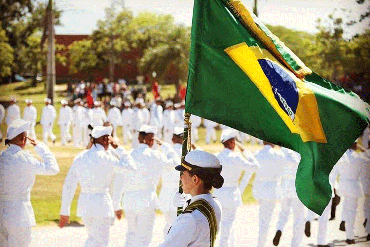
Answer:
[{"label": "saluting sailor in white directly right of the flag bearer's head", "polygon": [[221,175],[225,182],[220,189],[215,189],[213,195],[222,206],[220,227],[220,247],[234,247],[233,224],[236,208],[242,205],[242,197],[238,181],[242,171],[255,172],[259,164],[251,151],[238,145],[242,153],[235,151],[235,141],[238,132],[232,129],[222,131],[220,141],[224,149],[217,155],[222,165]]}]

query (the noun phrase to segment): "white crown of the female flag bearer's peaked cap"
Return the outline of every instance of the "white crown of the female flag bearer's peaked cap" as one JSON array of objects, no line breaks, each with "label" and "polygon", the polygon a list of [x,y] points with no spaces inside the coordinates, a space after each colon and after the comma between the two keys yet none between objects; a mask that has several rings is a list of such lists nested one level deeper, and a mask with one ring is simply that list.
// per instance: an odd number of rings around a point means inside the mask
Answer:
[{"label": "white crown of the female flag bearer's peaked cap", "polygon": [[184,160],[187,163],[202,168],[220,168],[220,161],[214,154],[201,150],[193,150],[185,155]]}]

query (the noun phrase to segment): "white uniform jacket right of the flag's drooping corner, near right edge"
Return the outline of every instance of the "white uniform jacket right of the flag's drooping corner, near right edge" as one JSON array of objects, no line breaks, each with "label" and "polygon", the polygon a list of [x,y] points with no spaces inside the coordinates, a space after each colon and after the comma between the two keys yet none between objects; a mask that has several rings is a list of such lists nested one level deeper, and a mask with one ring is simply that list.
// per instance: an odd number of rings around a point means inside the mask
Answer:
[{"label": "white uniform jacket right of the flag's drooping corner, near right edge", "polygon": [[352,149],[348,149],[337,164],[339,171],[339,196],[361,197],[363,191],[360,186],[359,177],[364,163],[369,162],[367,158]]}]

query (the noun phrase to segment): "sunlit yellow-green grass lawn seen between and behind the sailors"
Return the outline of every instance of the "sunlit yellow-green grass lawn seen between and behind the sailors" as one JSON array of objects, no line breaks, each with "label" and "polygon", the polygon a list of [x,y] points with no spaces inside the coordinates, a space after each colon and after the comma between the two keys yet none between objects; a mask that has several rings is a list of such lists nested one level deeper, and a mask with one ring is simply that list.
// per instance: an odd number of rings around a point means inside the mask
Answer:
[{"label": "sunlit yellow-green grass lawn seen between and behind the sailors", "polygon": [[[0,86],[0,100],[9,100],[11,96],[15,96],[19,103],[19,107],[21,109],[21,116],[23,116],[23,109],[25,107],[24,100],[26,98],[33,99],[33,105],[37,108],[37,123],[40,121],[42,108],[44,106],[43,99],[46,97],[46,93],[44,90],[43,83],[39,83],[37,87],[30,87],[28,81],[26,82],[17,82],[12,83],[9,85]],[[59,118],[59,108],[60,108],[60,100],[63,99],[63,91],[65,90],[65,85],[57,85],[56,86],[56,99],[55,99],[55,108],[57,110],[57,119]],[[167,97],[168,94],[173,95],[175,91],[175,87],[171,86],[163,86],[162,87],[162,95]],[[152,93],[149,92],[148,94],[151,95]],[[149,95],[148,95],[149,96]],[[6,124],[1,124],[1,131],[4,136],[6,136]],[[37,139],[42,139],[42,127],[40,124],[36,125],[35,128]],[[55,145],[49,143],[49,147],[53,154],[56,156],[59,167],[60,173],[56,176],[37,176],[34,187],[31,192],[31,202],[35,211],[35,217],[37,225],[48,225],[48,224],[55,224],[59,219],[59,210],[60,210],[60,203],[61,203],[61,193],[62,187],[64,183],[64,179],[67,175],[68,169],[72,164],[72,161],[77,153],[83,150],[83,148],[75,148],[70,144],[67,146],[60,146],[60,130],[59,126],[54,123],[53,132],[57,136],[57,142]],[[220,134],[221,130],[217,130],[217,141],[214,144],[206,145],[205,144],[205,129],[199,128],[199,142],[196,143],[200,147],[202,147],[205,151],[208,152],[220,152],[222,150],[222,144],[220,144]],[[122,140],[122,129],[118,128],[117,134]],[[127,149],[130,148],[129,145],[125,146]],[[248,146],[251,150],[259,149],[260,146]],[[0,144],[0,150],[5,149],[4,143]],[[27,149],[31,150],[33,154],[36,155],[36,152],[31,146],[27,146]],[[253,181],[253,179],[252,179]],[[251,181],[251,182],[252,182]],[[242,198],[243,203],[255,203],[256,201],[252,197],[252,185],[251,183],[248,185],[247,189],[244,191]],[[160,191],[160,183],[158,186],[157,192]],[[71,205],[71,221],[79,221],[80,219],[76,217],[76,206],[77,206],[77,198],[79,194],[79,187],[77,188],[76,195],[74,196],[74,200]]]}]

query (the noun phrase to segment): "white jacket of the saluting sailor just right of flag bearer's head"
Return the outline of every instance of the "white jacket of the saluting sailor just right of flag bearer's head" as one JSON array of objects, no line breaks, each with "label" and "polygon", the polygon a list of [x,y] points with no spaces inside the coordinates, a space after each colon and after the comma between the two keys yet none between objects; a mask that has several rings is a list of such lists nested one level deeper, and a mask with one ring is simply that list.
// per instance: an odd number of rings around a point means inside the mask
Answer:
[{"label": "white jacket of the saluting sailor just right of flag bearer's head", "polygon": [[237,207],[242,205],[242,197],[238,188],[238,181],[243,170],[257,171],[259,164],[251,151],[245,149],[243,154],[224,148],[217,158],[222,165],[221,176],[224,183],[220,189],[215,189],[213,195],[223,207]]}]

